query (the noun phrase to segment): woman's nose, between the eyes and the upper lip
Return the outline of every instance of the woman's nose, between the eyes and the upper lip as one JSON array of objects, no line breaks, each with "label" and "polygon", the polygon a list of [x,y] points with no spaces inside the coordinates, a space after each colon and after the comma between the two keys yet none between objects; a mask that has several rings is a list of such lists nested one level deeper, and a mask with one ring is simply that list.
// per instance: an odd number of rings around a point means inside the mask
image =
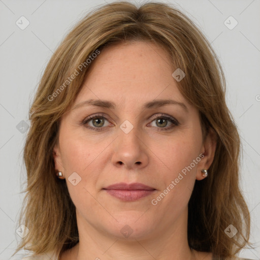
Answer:
[{"label": "woman's nose, between the eyes and the upper lip", "polygon": [[113,148],[112,163],[115,167],[139,170],[148,164],[148,144],[137,127],[127,134],[119,128]]}]

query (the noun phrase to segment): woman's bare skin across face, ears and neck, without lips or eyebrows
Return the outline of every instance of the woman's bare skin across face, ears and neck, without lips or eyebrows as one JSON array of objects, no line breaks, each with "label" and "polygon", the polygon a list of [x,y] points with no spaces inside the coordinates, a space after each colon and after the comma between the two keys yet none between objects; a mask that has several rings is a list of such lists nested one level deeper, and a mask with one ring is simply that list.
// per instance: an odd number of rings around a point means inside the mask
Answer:
[{"label": "woman's bare skin across face, ears and neck, without lips or eyebrows", "polygon": [[[204,178],[201,170],[213,161],[215,138],[210,134],[203,141],[199,112],[179,92],[167,52],[153,43],[132,42],[107,47],[92,62],[72,109],[61,119],[53,150],[55,168],[62,171],[76,206],[80,241],[60,259],[212,259],[211,253],[192,254],[188,246],[187,205],[195,180]],[[73,109],[88,99],[112,101],[116,108]],[[187,112],[180,105],[142,108],[157,99],[181,102]],[[82,124],[94,114],[107,119]],[[179,124],[167,120],[161,126],[153,119],[161,114]],[[128,134],[120,128],[125,120],[134,126]],[[200,154],[199,163],[152,205]],[[81,177],[75,186],[68,180],[73,172]],[[156,190],[123,202],[103,189],[118,182],[140,182]],[[128,237],[120,232],[126,224],[133,231]]]}]

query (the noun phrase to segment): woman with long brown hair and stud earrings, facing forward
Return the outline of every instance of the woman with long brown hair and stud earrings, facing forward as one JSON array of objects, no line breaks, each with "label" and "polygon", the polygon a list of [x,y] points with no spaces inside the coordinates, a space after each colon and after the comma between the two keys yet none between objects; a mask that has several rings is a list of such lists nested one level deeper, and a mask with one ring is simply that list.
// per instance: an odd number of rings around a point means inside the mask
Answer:
[{"label": "woman with long brown hair and stud earrings, facing forward", "polygon": [[219,61],[161,3],[105,5],[50,59],[30,109],[24,259],[237,259],[240,139]]}]

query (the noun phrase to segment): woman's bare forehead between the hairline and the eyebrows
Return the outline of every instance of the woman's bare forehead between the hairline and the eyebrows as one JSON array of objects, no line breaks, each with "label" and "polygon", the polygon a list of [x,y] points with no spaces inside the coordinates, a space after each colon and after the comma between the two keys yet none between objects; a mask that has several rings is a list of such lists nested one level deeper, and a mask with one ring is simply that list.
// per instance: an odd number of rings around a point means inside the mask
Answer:
[{"label": "woman's bare forehead between the hairline and the eyebrows", "polygon": [[163,47],[147,42],[109,46],[91,62],[76,103],[91,99],[133,102],[156,98],[184,101]]}]

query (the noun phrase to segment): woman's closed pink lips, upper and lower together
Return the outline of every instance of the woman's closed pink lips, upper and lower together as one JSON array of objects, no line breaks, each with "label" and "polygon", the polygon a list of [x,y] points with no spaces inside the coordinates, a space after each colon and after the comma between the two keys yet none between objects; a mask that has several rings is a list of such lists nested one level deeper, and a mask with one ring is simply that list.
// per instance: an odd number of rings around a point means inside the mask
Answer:
[{"label": "woman's closed pink lips, upper and lower together", "polygon": [[142,183],[116,183],[104,188],[111,196],[122,201],[136,201],[152,194],[155,189]]}]

